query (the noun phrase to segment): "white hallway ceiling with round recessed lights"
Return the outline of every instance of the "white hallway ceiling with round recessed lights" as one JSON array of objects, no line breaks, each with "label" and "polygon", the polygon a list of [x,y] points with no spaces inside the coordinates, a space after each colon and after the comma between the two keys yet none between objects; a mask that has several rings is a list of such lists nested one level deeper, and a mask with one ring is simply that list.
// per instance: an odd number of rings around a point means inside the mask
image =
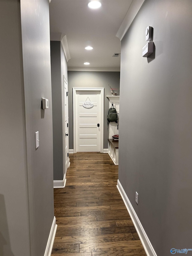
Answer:
[{"label": "white hallway ceiling with round recessed lights", "polygon": [[[88,68],[120,70],[121,41],[116,34],[133,0],[101,0],[101,8],[88,8],[88,0],[52,0],[50,2],[50,32],[63,33],[71,59],[68,70]],[[93,50],[85,50],[88,45]]]}]

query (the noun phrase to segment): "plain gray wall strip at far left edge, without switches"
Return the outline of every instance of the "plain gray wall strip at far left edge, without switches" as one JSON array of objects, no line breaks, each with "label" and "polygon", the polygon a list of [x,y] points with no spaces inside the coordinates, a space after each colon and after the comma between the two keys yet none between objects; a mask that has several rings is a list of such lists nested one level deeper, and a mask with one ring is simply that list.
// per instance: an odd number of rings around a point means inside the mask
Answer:
[{"label": "plain gray wall strip at far left edge, without switches", "polygon": [[0,1],[0,256],[31,255],[20,16]]}]

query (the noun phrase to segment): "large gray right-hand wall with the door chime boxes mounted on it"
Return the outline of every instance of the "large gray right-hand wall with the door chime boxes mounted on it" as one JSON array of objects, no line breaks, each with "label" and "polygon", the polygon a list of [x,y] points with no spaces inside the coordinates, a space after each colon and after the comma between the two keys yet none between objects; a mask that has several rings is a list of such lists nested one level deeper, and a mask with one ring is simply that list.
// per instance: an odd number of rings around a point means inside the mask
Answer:
[{"label": "large gray right-hand wall with the door chime boxes mounted on it", "polygon": [[191,1],[146,0],[122,40],[119,181],[159,256],[191,248],[191,39]]}]

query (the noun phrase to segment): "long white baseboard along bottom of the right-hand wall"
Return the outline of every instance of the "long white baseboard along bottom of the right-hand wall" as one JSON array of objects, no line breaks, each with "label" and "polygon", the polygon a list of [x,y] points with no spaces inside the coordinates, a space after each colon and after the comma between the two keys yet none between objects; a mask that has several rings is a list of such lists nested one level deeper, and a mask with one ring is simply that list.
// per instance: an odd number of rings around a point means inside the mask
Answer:
[{"label": "long white baseboard along bottom of the right-hand wall", "polygon": [[143,226],[141,225],[139,218],[137,217],[137,214],[136,214],[133,206],[131,205],[131,202],[129,201],[127,195],[125,194],[125,191],[124,191],[119,179],[117,180],[117,188],[119,190],[119,193],[121,194],[121,197],[125,203],[125,206],[126,206],[128,212],[129,212],[129,215],[130,215],[130,217],[133,221],[133,224],[137,230],[137,233],[140,237],[140,240],[143,244],[143,247],[144,247],[144,250],[145,250],[147,256],[157,256],[151,242],[149,241],[147,234],[145,233]]}]

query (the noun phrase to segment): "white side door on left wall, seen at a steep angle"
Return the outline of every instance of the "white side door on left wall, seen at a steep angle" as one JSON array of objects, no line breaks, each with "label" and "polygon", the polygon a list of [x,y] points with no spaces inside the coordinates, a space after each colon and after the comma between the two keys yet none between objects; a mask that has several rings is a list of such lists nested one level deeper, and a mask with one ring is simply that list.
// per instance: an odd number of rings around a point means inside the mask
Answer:
[{"label": "white side door on left wall, seen at a steep angle", "polygon": [[63,147],[63,154],[64,154],[64,170],[65,170],[65,174],[67,173],[67,168],[70,165],[70,161],[69,161],[69,116],[68,116],[68,85],[67,85],[67,79],[65,76],[63,76],[63,98],[64,98],[64,147]]}]

